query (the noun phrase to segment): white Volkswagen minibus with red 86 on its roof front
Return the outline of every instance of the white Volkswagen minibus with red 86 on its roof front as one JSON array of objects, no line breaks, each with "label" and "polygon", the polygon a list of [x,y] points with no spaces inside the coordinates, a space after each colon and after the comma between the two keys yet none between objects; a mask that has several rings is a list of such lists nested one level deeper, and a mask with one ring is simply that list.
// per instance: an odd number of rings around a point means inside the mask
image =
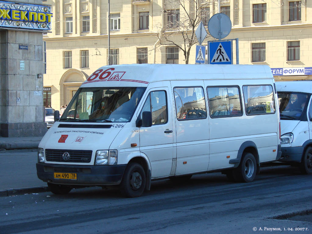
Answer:
[{"label": "white Volkswagen minibus with red 86 on its roof front", "polygon": [[280,158],[277,106],[268,66],[104,66],[43,137],[37,175],[56,194],[120,185],[127,197],[212,171],[251,182]]}]

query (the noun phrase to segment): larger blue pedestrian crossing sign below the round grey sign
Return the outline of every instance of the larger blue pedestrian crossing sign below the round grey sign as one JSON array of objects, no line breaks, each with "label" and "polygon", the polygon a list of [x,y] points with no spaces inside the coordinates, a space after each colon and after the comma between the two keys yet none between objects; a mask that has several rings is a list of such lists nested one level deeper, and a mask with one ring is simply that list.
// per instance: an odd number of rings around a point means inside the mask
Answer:
[{"label": "larger blue pedestrian crossing sign below the round grey sign", "polygon": [[208,41],[210,64],[233,64],[232,41]]}]

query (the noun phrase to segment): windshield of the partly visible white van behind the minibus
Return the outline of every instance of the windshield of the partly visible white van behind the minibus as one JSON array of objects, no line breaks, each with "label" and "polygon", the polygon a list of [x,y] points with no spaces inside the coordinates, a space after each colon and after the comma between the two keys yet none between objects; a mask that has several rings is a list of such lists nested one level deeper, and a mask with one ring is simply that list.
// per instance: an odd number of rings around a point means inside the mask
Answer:
[{"label": "windshield of the partly visible white van behind the minibus", "polygon": [[310,95],[299,92],[277,92],[280,106],[280,119],[300,120],[306,115],[306,105]]}]

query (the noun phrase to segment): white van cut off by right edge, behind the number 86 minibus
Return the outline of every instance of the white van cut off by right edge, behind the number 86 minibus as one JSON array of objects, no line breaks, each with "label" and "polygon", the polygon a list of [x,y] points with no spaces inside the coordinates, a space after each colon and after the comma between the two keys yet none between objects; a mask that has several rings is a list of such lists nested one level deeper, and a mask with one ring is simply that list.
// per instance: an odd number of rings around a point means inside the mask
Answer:
[{"label": "white van cut off by right edge, behind the number 86 minibus", "polygon": [[280,106],[280,162],[312,174],[312,81],[276,82]]}]

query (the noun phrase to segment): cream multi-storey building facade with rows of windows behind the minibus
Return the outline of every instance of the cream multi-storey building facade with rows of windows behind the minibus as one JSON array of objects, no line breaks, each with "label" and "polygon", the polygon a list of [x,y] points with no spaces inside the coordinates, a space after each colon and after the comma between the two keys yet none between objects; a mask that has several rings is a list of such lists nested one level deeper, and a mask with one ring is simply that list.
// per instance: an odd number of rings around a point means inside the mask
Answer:
[{"label": "cream multi-storey building facade with rows of windows behind the minibus", "polygon": [[[68,104],[81,83],[100,66],[185,63],[177,47],[184,46],[181,35],[171,36],[177,45],[162,44],[157,36],[165,25],[182,22],[186,12],[194,14],[194,3],[189,1],[184,12],[177,1],[170,2],[110,0],[108,28],[106,1],[48,0],[54,15],[52,33],[43,37],[44,104],[58,110]],[[217,1],[198,0],[197,4],[207,27],[209,17],[218,12]],[[311,6],[312,0],[221,0],[221,12],[232,22],[225,39],[239,39],[240,64],[269,65],[275,80],[312,80]],[[203,44],[208,40],[212,37]],[[189,63],[195,63],[195,45]]]}]

